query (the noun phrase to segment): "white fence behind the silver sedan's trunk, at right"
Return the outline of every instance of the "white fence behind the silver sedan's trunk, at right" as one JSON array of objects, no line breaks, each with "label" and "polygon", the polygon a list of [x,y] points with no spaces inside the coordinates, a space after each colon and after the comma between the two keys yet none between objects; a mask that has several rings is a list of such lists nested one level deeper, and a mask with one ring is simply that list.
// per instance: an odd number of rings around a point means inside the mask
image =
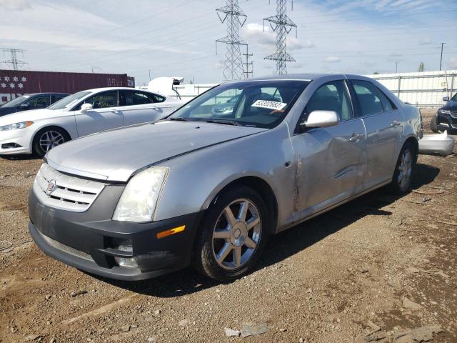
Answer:
[{"label": "white fence behind the silver sedan's trunk, at right", "polygon": [[381,82],[402,101],[420,107],[443,106],[443,96],[457,91],[457,70],[367,76]]}]

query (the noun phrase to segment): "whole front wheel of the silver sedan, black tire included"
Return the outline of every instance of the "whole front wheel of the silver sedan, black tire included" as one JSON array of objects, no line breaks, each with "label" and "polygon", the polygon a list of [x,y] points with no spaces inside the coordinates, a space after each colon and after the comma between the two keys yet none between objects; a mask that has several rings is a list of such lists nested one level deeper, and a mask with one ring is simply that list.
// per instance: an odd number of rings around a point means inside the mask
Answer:
[{"label": "whole front wheel of the silver sedan, black tire included", "polygon": [[[244,221],[242,208],[246,209]],[[268,213],[263,199],[250,187],[238,185],[221,193],[197,232],[194,268],[221,282],[248,273],[258,262],[271,232]]]}]

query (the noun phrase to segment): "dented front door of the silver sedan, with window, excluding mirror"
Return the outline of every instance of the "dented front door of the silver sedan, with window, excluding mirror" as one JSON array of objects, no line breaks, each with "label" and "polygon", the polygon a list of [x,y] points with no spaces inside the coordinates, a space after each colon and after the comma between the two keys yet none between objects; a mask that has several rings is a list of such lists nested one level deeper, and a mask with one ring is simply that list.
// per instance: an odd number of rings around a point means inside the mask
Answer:
[{"label": "dented front door of the silver sedan, with window, excluding mirror", "polygon": [[312,111],[336,111],[338,124],[298,129],[292,137],[296,152],[296,208],[299,218],[319,212],[360,192],[365,167],[365,129],[356,118],[346,81],[316,89],[299,123]]}]

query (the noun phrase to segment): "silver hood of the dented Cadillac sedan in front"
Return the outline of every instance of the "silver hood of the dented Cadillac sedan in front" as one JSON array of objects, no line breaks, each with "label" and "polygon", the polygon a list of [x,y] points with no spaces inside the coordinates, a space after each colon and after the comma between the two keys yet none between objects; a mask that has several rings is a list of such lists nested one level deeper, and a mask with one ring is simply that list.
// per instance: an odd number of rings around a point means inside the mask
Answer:
[{"label": "silver hood of the dented Cadillac sedan in front", "polygon": [[104,131],[57,146],[46,155],[55,169],[126,182],[138,169],[266,129],[196,121],[158,121]]}]

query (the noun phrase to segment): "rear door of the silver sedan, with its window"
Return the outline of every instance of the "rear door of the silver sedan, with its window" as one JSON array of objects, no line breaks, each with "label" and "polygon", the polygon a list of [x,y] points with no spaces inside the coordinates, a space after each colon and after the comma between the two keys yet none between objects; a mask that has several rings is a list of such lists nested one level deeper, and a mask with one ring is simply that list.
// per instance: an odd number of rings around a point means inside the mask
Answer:
[{"label": "rear door of the silver sedan, with its window", "polygon": [[371,81],[351,79],[357,111],[366,128],[366,172],[368,189],[393,177],[400,153],[403,114]]}]

